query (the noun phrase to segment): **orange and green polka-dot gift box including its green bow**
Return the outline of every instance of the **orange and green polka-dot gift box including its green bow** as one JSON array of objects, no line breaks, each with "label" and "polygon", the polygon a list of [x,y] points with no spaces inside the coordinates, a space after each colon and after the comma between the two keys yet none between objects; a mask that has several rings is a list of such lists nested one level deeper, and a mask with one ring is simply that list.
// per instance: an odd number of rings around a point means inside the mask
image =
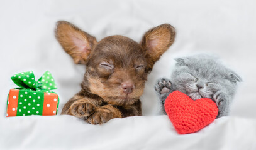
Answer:
[{"label": "orange and green polka-dot gift box including its green bow", "polygon": [[9,91],[6,116],[56,115],[59,98],[53,89],[57,89],[52,74],[46,71],[35,81],[33,71],[15,74],[11,77],[19,86]]}]

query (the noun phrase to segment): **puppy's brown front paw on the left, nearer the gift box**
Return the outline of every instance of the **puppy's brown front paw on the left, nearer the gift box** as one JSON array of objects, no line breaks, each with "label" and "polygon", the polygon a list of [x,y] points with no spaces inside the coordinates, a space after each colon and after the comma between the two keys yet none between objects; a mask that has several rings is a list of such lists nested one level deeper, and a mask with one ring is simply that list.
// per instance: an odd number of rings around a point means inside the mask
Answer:
[{"label": "puppy's brown front paw on the left, nearer the gift box", "polygon": [[91,103],[81,102],[73,103],[70,106],[70,114],[77,118],[86,119],[92,113],[94,113],[96,106]]}]

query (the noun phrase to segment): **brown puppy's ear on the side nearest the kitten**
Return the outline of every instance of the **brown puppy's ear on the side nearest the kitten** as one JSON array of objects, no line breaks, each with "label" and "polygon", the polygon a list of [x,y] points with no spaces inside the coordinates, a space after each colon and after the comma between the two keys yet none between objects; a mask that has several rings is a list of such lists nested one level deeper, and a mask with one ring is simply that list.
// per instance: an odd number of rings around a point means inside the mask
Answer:
[{"label": "brown puppy's ear on the side nearest the kitten", "polygon": [[155,61],[159,60],[160,56],[172,45],[174,38],[175,28],[170,24],[162,24],[145,33],[141,45],[146,54],[149,70],[153,68]]}]

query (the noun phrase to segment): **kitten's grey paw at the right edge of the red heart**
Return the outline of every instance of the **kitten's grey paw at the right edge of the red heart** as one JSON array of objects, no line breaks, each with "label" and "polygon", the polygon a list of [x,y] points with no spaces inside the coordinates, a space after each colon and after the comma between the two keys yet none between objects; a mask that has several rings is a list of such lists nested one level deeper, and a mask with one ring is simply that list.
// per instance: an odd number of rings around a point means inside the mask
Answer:
[{"label": "kitten's grey paw at the right edge of the red heart", "polygon": [[227,94],[222,92],[217,92],[213,95],[213,100],[218,106],[218,116],[220,118],[222,116],[228,116],[230,98]]}]

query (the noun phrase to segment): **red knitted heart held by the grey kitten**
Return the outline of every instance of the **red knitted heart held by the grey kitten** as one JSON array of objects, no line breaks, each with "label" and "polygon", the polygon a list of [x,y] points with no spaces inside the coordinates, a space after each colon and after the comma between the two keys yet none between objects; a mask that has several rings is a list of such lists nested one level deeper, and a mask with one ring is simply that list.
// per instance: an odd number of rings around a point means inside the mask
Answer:
[{"label": "red knitted heart held by the grey kitten", "polygon": [[169,94],[164,108],[179,134],[199,131],[218,115],[218,107],[213,100],[201,98],[194,101],[180,91]]}]

